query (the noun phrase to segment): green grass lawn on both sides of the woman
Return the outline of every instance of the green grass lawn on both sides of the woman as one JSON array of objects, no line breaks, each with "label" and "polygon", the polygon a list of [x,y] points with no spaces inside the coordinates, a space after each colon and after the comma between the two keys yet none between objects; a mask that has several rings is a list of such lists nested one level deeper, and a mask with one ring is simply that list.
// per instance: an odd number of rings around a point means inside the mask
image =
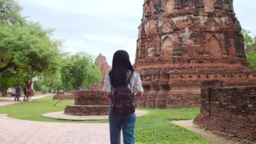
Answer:
[{"label": "green grass lawn on both sides of the woman", "polygon": [[[74,104],[74,101],[52,100],[53,96],[47,96],[31,102],[23,102],[0,107],[0,114],[9,114],[9,117],[44,122],[62,123],[108,123],[108,120],[97,121],[70,121],[55,120],[41,117],[47,112],[64,111],[66,105]],[[191,120],[196,117],[200,109],[139,109],[146,110],[149,114],[138,117],[136,120],[135,136],[138,144],[212,144],[212,142],[191,131],[173,125],[169,120]]]}]

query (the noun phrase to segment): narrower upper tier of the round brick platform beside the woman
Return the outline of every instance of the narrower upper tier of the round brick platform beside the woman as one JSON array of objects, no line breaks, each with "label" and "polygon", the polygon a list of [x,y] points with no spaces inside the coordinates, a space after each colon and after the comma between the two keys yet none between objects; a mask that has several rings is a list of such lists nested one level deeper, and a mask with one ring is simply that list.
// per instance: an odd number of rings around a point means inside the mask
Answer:
[{"label": "narrower upper tier of the round brick platform beside the woman", "polygon": [[74,91],[75,105],[102,106],[110,105],[104,91]]}]

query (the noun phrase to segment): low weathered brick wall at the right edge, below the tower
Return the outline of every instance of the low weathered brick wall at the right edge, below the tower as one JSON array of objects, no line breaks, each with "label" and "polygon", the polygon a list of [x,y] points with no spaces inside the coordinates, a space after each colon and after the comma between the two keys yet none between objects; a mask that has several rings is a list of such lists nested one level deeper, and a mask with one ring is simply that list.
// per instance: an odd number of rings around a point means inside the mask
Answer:
[{"label": "low weathered brick wall at the right edge, below the tower", "polygon": [[194,123],[246,144],[256,143],[256,83],[224,87],[220,81],[201,86],[201,112]]}]

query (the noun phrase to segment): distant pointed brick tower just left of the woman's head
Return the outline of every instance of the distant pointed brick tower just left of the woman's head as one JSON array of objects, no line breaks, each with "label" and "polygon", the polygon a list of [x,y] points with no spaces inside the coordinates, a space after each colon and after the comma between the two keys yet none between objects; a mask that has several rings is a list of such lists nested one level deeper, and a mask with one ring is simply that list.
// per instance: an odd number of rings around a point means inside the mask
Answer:
[{"label": "distant pointed brick tower just left of the woman's head", "polygon": [[111,70],[111,67],[107,63],[106,57],[103,56],[101,53],[99,54],[99,56],[97,56],[95,60],[95,64],[97,67],[99,67],[101,71],[101,74],[102,74],[101,81],[100,83],[95,83],[94,85],[92,85],[89,88],[89,90],[101,90],[104,87],[105,76],[107,75],[107,72]]}]

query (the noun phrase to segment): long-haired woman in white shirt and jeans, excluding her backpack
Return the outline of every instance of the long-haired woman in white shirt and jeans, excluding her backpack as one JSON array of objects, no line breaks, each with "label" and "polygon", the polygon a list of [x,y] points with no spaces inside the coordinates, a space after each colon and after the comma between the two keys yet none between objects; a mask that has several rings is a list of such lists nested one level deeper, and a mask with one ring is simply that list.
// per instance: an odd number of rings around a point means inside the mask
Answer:
[{"label": "long-haired woman in white shirt and jeans, excluding her backpack", "polygon": [[[120,88],[125,85],[128,76],[134,71],[131,65],[129,55],[126,51],[119,50],[114,53],[112,61],[112,69],[105,77],[104,94],[108,99],[111,99],[111,93],[115,88]],[[134,72],[128,85],[128,88],[135,93],[135,97],[141,97],[143,88],[138,72]],[[120,144],[120,131],[123,131],[124,144],[135,144],[134,128],[136,115],[135,112],[127,115],[114,115],[112,112],[112,104],[109,109],[109,129],[111,144]]]}]

